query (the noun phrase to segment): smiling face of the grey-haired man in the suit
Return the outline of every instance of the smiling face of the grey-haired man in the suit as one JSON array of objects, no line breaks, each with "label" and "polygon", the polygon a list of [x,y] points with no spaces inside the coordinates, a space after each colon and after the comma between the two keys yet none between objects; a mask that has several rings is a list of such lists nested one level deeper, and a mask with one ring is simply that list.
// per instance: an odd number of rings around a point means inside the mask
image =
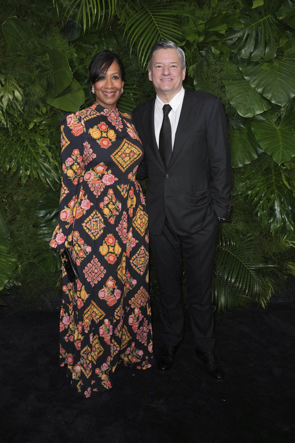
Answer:
[{"label": "smiling face of the grey-haired man in the suit", "polygon": [[153,56],[149,69],[149,80],[159,97],[171,100],[181,89],[185,77],[185,67],[181,67],[179,55],[175,49],[159,49]]}]

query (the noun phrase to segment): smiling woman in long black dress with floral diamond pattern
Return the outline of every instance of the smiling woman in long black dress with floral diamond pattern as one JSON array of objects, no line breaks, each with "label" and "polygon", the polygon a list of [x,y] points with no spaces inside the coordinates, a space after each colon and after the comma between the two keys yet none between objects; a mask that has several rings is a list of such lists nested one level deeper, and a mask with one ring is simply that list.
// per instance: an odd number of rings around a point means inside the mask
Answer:
[{"label": "smiling woman in long black dress with floral diamond pattern", "polygon": [[61,366],[86,397],[112,387],[116,365],[153,365],[148,294],[149,238],[136,180],[142,143],[120,113],[124,68],[110,51],[94,56],[96,102],[61,119],[59,224],[50,245],[69,248],[79,278],[63,269]]}]

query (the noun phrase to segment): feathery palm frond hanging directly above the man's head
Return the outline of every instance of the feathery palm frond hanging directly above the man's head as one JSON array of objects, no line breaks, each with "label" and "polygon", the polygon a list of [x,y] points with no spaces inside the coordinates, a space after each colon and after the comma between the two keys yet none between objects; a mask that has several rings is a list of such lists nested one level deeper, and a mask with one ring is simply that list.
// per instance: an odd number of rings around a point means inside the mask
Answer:
[{"label": "feathery palm frond hanging directly above the man's head", "polygon": [[158,40],[172,40],[178,44],[184,40],[178,17],[179,10],[164,0],[141,1],[141,7],[134,11],[125,26],[130,52],[136,44],[141,66],[146,65],[150,48]]}]

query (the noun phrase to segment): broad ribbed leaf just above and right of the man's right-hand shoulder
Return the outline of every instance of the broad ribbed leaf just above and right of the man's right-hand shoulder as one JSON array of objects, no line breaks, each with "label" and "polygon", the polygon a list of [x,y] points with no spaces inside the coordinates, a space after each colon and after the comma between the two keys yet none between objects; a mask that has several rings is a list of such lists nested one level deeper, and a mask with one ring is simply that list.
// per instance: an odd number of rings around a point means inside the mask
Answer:
[{"label": "broad ribbed leaf just above and right of the man's right-hand shoulder", "polygon": [[226,95],[241,117],[254,117],[271,108],[271,104],[243,78],[224,80]]}]

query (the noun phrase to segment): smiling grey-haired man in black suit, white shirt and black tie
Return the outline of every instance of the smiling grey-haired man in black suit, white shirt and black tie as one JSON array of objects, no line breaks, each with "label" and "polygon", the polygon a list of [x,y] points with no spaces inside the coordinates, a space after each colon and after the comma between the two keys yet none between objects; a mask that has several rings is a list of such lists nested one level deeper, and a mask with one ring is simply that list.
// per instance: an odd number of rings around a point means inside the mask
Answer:
[{"label": "smiling grey-haired man in black suit, white shirt and black tie", "polygon": [[[146,206],[160,289],[164,346],[157,359],[169,371],[184,334],[182,259],[196,356],[207,375],[223,381],[215,357],[211,278],[220,218],[228,218],[231,166],[221,101],[184,89],[184,52],[169,41],[153,45],[149,80],[157,96],[132,119],[145,148],[137,178],[148,177]],[[218,220],[219,219],[219,220]]]}]

